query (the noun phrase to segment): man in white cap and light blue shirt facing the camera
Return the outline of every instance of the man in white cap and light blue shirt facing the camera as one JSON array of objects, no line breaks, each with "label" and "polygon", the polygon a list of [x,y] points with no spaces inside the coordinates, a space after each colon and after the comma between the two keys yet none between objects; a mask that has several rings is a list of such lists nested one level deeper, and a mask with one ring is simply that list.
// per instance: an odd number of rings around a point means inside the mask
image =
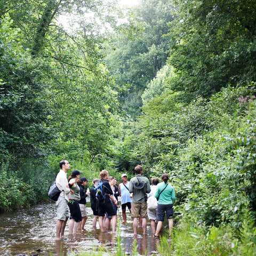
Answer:
[{"label": "man in white cap and light blue shirt facing the camera", "polygon": [[122,183],[119,184],[119,195],[121,196],[121,207],[122,207],[122,216],[124,223],[126,223],[126,206],[128,210],[131,212],[132,207],[132,198],[130,197],[130,191],[129,191],[129,183],[130,181],[127,181],[127,174],[123,173],[121,175],[121,178],[123,180]]}]

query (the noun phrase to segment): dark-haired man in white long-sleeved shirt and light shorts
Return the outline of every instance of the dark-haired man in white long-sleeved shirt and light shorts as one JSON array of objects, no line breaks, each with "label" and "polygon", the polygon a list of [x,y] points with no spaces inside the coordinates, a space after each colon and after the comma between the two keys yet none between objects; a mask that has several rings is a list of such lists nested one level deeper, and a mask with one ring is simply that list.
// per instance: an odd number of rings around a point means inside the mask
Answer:
[{"label": "dark-haired man in white long-sleeved shirt and light shorts", "polygon": [[70,164],[67,160],[62,160],[60,162],[60,168],[57,177],[56,177],[56,185],[61,190],[60,196],[56,202],[57,205],[57,236],[56,239],[60,240],[64,238],[64,230],[66,227],[67,220],[69,218],[69,207],[68,207],[68,194],[70,188],[68,186],[67,172],[70,169]]}]

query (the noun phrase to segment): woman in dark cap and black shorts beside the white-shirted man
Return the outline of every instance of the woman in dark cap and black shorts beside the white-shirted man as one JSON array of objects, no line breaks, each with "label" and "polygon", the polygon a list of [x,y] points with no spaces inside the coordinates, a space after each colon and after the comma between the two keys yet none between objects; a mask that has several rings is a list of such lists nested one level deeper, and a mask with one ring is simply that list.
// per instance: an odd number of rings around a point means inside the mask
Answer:
[{"label": "woman in dark cap and black shorts beside the white-shirted man", "polygon": [[76,234],[79,222],[82,221],[81,210],[78,203],[80,201],[80,188],[77,184],[77,180],[80,178],[81,174],[83,173],[79,172],[78,170],[74,170],[68,178],[68,185],[74,192],[73,194],[69,193],[68,201],[68,207],[70,210],[70,220],[68,226],[69,235]]}]

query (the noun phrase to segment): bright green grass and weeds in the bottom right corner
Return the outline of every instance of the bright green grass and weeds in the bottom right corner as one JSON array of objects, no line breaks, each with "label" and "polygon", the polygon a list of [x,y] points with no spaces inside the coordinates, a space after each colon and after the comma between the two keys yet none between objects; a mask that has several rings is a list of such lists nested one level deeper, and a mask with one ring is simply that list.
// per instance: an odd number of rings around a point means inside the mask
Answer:
[{"label": "bright green grass and weeds in the bottom right corner", "polygon": [[225,223],[219,227],[206,226],[205,223],[196,223],[195,219],[185,215],[173,229],[171,245],[166,244],[166,238],[163,237],[157,249],[160,255],[173,256],[253,256],[256,252],[255,219],[247,210],[243,211],[243,218],[241,228],[234,232],[234,228]]}]

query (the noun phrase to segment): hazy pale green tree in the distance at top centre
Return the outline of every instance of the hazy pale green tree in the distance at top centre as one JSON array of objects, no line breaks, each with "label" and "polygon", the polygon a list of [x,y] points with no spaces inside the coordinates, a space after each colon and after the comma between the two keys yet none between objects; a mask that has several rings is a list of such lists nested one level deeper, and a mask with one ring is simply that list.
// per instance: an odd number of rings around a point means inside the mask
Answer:
[{"label": "hazy pale green tree in the distance at top centre", "polygon": [[119,94],[119,101],[122,110],[133,119],[141,115],[141,94],[166,63],[169,37],[164,35],[174,15],[170,1],[141,1],[129,13],[129,24],[121,25],[116,41],[106,51],[106,65],[116,84],[129,86]]}]

